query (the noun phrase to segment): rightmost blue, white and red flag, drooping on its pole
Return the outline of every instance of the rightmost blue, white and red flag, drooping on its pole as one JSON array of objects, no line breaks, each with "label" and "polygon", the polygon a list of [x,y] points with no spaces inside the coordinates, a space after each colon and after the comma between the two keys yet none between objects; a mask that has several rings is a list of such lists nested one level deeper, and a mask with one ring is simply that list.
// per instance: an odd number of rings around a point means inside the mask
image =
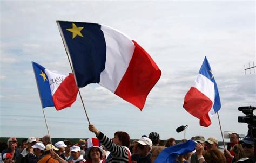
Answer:
[{"label": "rightmost blue, white and red flag, drooping on its pole", "polygon": [[221,107],[218,87],[206,56],[194,86],[185,95],[183,107],[205,127],[212,123],[210,117]]}]

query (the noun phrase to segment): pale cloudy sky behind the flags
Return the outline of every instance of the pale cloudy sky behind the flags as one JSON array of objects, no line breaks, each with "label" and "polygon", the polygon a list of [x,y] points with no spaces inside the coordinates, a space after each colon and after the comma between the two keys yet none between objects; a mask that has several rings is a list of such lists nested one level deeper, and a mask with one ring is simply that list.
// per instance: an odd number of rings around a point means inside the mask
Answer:
[{"label": "pale cloudy sky behind the flags", "polygon": [[[0,137],[48,134],[31,61],[49,70],[71,72],[56,20],[111,26],[138,42],[162,74],[142,111],[98,84],[80,92],[89,120],[110,138],[125,131],[131,139],[158,132],[160,139],[198,134],[221,141],[218,116],[209,127],[184,108],[184,96],[207,56],[217,82],[223,131],[247,133],[238,107],[256,107],[254,1],[1,1]],[[89,138],[88,121],[77,97],[71,108],[44,109],[53,138]],[[255,111],[254,111],[255,112]],[[228,141],[228,139],[225,139]]]}]

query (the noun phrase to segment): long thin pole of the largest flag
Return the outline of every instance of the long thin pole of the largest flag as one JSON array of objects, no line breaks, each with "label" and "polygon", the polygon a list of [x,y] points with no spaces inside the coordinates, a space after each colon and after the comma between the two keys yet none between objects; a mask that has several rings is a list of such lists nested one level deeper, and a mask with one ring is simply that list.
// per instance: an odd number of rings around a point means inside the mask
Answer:
[{"label": "long thin pole of the largest flag", "polygon": [[[59,25],[59,22],[58,22],[58,21],[56,21],[56,22],[57,22],[57,25],[58,25],[58,27],[59,27],[60,36],[62,36],[62,41],[63,41],[64,47],[65,47],[66,55],[68,56],[70,68],[71,68],[71,70],[72,70],[72,73],[73,73],[74,76],[75,76],[75,81],[76,81],[76,84],[77,84],[76,74],[75,74],[75,72],[74,72],[74,70],[73,70],[73,65],[72,65],[72,62],[70,61],[71,59],[70,59],[70,57],[69,57],[69,56],[70,56],[69,48],[68,48],[68,46],[66,45],[65,39],[63,39],[63,38],[64,38],[64,35],[63,35],[62,29],[61,29],[61,27],[60,27],[60,25]],[[80,99],[81,99],[82,104],[83,104],[83,107],[84,107],[85,115],[86,115],[86,117],[87,117],[87,120],[88,120],[89,124],[91,124],[90,121],[89,121],[89,118],[88,118],[88,115],[87,115],[85,106],[84,106],[84,101],[83,101],[83,98],[82,98],[82,96],[81,96],[81,93],[80,93],[78,84],[77,84],[77,88],[78,88],[78,93],[79,93]]]}]

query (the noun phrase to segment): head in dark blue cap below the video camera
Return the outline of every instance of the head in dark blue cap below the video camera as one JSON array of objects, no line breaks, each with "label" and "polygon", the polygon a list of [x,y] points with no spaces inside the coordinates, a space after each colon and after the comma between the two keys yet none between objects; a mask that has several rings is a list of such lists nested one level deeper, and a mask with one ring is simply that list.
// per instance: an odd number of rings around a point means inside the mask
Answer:
[{"label": "head in dark blue cap below the video camera", "polygon": [[244,137],[242,139],[242,148],[245,151],[245,157],[251,158],[254,155],[254,140],[250,136]]}]

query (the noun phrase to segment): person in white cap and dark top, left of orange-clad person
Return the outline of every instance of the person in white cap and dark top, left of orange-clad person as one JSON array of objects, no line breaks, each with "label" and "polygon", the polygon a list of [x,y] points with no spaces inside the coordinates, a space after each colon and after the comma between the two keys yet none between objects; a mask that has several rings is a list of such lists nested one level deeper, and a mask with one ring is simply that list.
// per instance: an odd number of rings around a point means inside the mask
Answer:
[{"label": "person in white cap and dark top, left of orange-clad person", "polygon": [[36,143],[32,146],[34,153],[29,153],[26,158],[29,163],[37,163],[40,159],[44,157],[45,146],[43,143]]}]

